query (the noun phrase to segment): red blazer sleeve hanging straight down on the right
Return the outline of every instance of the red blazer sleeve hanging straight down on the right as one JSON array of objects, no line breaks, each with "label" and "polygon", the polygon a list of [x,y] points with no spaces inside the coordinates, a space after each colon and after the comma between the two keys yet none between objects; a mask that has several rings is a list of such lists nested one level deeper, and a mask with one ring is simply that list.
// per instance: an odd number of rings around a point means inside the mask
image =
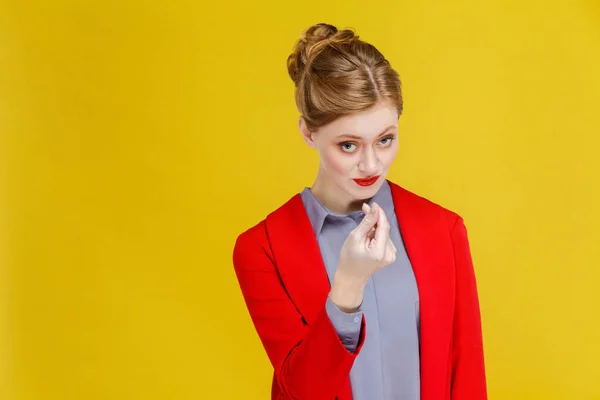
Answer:
[{"label": "red blazer sleeve hanging straight down on the right", "polygon": [[481,315],[467,229],[455,219],[451,231],[456,268],[452,345],[452,400],[487,399]]}]

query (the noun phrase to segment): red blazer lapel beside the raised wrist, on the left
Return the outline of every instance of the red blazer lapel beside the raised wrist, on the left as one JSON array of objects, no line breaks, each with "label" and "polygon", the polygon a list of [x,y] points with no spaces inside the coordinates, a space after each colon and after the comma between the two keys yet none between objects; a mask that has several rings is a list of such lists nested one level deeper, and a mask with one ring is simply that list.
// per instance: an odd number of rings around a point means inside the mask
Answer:
[{"label": "red blazer lapel beside the raised wrist, on the left", "polygon": [[322,311],[330,283],[300,194],[266,218],[267,235],[283,285],[308,324]]}]

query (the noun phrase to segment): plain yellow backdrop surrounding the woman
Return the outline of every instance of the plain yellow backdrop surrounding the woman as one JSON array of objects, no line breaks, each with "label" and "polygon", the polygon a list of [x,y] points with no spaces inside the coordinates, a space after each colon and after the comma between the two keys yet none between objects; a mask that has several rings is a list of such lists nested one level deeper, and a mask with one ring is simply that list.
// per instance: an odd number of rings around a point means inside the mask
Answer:
[{"label": "plain yellow backdrop surrounding the woman", "polygon": [[237,234],[312,183],[285,60],[400,72],[390,178],[469,229],[493,399],[600,399],[598,1],[2,1],[0,398],[266,399]]}]

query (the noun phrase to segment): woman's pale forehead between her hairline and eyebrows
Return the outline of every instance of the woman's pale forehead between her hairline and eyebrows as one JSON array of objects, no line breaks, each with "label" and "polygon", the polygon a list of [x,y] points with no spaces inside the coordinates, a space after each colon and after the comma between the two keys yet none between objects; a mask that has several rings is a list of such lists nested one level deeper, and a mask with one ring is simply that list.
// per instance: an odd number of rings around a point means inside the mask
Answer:
[{"label": "woman's pale forehead between her hairline and eyebrows", "polygon": [[389,103],[378,103],[374,107],[354,114],[345,115],[321,128],[328,137],[342,135],[372,139],[398,123],[398,111]]}]

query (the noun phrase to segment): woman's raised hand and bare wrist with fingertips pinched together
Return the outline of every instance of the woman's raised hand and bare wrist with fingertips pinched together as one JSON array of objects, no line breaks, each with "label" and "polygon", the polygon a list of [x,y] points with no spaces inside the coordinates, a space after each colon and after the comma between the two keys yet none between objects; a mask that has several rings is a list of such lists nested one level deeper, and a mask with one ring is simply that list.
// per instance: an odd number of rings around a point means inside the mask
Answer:
[{"label": "woman's raised hand and bare wrist with fingertips pinched together", "polygon": [[369,277],[396,260],[396,247],[390,240],[390,224],[381,207],[363,204],[365,217],[348,235],[329,297],[340,309],[350,312],[362,302]]}]

